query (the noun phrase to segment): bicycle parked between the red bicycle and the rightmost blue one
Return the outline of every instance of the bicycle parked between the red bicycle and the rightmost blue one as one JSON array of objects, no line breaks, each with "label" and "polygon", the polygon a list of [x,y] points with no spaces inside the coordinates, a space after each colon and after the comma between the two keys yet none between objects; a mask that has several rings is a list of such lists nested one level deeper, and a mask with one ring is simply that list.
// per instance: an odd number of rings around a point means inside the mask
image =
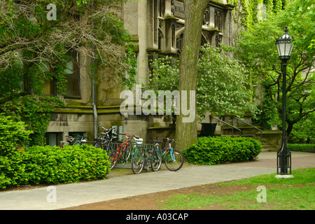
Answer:
[{"label": "bicycle parked between the red bicycle and the rightmost blue one", "polygon": [[132,158],[132,172],[140,174],[144,168],[148,169],[148,167],[151,167],[153,171],[157,171],[160,169],[161,162],[162,160],[160,160],[160,155],[155,150],[155,146],[153,148],[143,148]]}]

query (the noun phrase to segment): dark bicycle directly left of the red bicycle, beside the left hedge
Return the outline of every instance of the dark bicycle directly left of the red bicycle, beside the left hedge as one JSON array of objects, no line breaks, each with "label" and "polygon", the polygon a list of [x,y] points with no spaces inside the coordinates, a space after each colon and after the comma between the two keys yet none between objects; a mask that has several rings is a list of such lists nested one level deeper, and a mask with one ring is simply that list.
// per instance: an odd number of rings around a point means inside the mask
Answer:
[{"label": "dark bicycle directly left of the red bicycle, beside the left hedge", "polygon": [[97,127],[102,128],[105,132],[97,134],[97,139],[95,140],[94,147],[104,149],[107,155],[109,155],[113,151],[110,147],[110,144],[111,142],[113,142],[114,137],[117,136],[117,134],[113,132],[113,130],[116,130],[116,128],[112,127],[110,129],[106,129],[105,127],[102,127],[100,125],[97,125]]}]

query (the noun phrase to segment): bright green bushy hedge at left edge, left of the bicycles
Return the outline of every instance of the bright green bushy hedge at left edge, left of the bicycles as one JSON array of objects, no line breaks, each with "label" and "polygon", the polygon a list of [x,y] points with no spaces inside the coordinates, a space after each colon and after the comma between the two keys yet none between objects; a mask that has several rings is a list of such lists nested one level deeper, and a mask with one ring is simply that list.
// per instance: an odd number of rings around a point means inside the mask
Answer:
[{"label": "bright green bushy hedge at left edge, left of the bicycles", "polygon": [[109,157],[93,146],[32,146],[31,131],[0,114],[0,188],[40,183],[73,183],[105,179]]}]

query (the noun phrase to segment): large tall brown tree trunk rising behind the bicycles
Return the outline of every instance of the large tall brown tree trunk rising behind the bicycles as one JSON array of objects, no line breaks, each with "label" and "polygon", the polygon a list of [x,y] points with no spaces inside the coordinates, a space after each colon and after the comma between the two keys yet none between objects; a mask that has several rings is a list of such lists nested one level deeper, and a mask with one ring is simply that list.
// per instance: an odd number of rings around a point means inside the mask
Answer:
[{"label": "large tall brown tree trunk rising behind the bicycles", "polygon": [[[176,148],[180,151],[186,149],[197,141],[196,95],[197,95],[197,62],[202,36],[202,20],[209,0],[185,0],[185,31],[183,36],[183,49],[181,64],[179,66],[179,92],[181,94],[181,111],[176,118]],[[183,99],[183,92],[187,91],[187,101]],[[190,90],[193,92],[190,97]],[[193,109],[194,114],[183,116],[183,105]],[[193,106],[193,107],[192,107]],[[185,109],[185,108],[184,108]],[[191,111],[191,110],[190,110]]]}]

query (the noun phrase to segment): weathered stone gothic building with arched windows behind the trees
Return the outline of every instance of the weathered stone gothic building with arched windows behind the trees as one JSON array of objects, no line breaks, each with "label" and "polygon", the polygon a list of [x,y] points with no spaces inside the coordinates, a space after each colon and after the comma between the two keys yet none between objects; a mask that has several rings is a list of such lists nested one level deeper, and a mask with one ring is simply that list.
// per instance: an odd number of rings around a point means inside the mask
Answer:
[{"label": "weathered stone gothic building with arched windows behind the trees", "polygon": [[[124,7],[125,28],[130,31],[132,41],[137,46],[138,84],[146,83],[148,59],[159,55],[176,57],[181,53],[185,30],[183,0],[128,1]],[[232,10],[233,6],[226,0],[209,1],[202,25],[202,44],[232,45],[235,29]],[[83,134],[93,141],[97,134],[96,125],[106,128],[115,126],[117,132],[135,134],[144,140],[174,136],[174,130],[169,127],[170,121],[163,116],[123,116],[120,113],[120,104],[123,102],[120,92],[123,89],[116,80],[102,80],[93,90],[86,68],[88,66],[80,66],[86,61],[86,56],[80,55],[76,59],[76,63],[68,63],[66,76],[69,82],[64,96],[66,106],[52,113],[46,133],[47,144],[58,145],[65,140],[66,134]],[[53,91],[50,85],[47,85],[47,91]],[[96,92],[94,101],[93,91]],[[201,125],[197,128],[200,130]]]}]

